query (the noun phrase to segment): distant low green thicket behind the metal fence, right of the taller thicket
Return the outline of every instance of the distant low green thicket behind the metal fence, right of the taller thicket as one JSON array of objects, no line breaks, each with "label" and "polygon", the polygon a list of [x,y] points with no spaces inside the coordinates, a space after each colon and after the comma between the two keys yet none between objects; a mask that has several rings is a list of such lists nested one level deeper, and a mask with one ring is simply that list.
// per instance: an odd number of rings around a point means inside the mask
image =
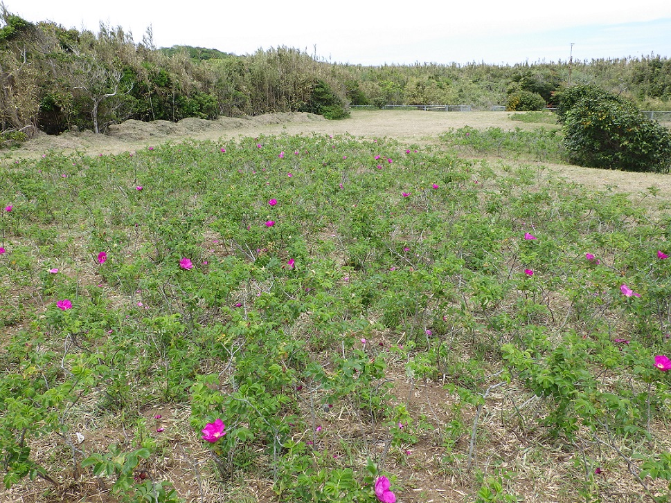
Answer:
[{"label": "distant low green thicket behind the metal fence, right of the taller thicket", "polygon": [[[671,60],[650,55],[609,60],[537,62],[514,66],[471,63],[341,66],[351,104],[469,104],[517,108],[532,93],[542,106],[570,84],[597,84],[645,110],[671,110]],[[354,92],[352,92],[354,91]],[[526,96],[528,98],[528,95]]]}]

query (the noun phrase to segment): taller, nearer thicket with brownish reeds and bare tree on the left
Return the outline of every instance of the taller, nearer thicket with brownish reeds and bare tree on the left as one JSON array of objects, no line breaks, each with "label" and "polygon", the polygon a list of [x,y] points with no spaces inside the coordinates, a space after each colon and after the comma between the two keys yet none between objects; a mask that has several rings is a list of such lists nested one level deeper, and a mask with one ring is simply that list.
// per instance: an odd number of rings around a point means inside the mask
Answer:
[{"label": "taller, nearer thicket with brownish reeds and bare tree on the left", "polygon": [[37,130],[98,133],[114,123],[309,111],[347,115],[345,89],[327,64],[291,48],[249,57],[182,48],[159,51],[121,28],[98,33],[30,24],[2,12],[0,126],[28,138]]}]

